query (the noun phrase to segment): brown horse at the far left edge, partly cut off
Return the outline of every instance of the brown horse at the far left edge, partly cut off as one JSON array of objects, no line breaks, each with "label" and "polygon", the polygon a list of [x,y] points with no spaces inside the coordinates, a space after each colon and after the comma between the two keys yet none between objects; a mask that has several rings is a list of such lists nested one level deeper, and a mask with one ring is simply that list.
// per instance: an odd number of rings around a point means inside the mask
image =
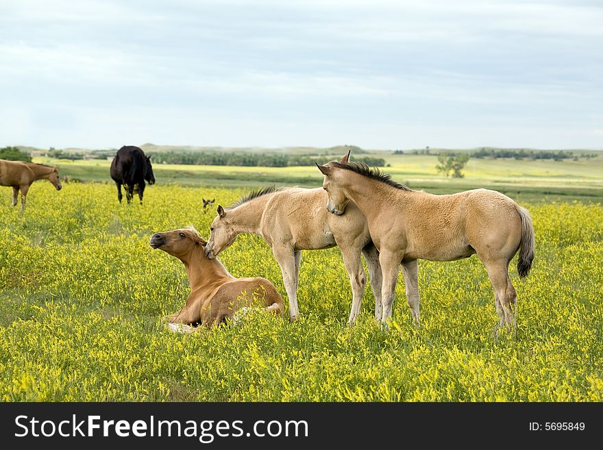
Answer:
[{"label": "brown horse at the far left edge, partly cut off", "polygon": [[25,210],[29,186],[32,186],[36,179],[42,178],[51,182],[56,190],[61,190],[63,187],[56,167],[33,162],[0,160],[0,186],[12,187],[11,206],[16,206],[21,190],[21,212]]}]

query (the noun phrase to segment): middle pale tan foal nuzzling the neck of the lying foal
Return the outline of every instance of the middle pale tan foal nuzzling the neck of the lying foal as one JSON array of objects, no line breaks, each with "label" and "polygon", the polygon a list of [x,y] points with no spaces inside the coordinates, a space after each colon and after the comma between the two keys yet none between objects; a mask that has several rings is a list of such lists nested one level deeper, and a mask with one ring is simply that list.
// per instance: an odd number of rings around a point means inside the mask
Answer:
[{"label": "middle pale tan foal nuzzling the neck of the lying foal", "polygon": [[[342,161],[347,161],[349,153]],[[352,284],[350,325],[360,313],[367,283],[360,253],[365,255],[371,287],[375,296],[376,317],[381,313],[381,268],[379,253],[369,235],[369,227],[356,205],[348,205],[345,216],[328,214],[324,208],[326,192],[321,188],[265,188],[251,192],[230,208],[218,206],[218,216],[211,225],[206,247],[208,258],[214,258],[234,242],[241,233],[259,234],[271,247],[280,265],[289,298],[291,321],[299,315],[297,285],[302,250],[327,249],[339,245],[343,264]]]}]

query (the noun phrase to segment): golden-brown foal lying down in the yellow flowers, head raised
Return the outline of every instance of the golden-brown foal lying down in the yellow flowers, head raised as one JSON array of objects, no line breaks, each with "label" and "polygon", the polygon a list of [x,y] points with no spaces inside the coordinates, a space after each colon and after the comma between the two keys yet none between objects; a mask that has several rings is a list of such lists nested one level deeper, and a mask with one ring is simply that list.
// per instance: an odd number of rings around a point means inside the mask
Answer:
[{"label": "golden-brown foal lying down in the yellow flowers, head raised", "polygon": [[206,257],[207,242],[194,228],[153,234],[150,244],[182,261],[188,275],[190,295],[182,310],[168,316],[172,329],[176,324],[219,325],[237,310],[253,306],[282,314],[282,297],[271,282],[260,277],[234,278],[221,262]]}]

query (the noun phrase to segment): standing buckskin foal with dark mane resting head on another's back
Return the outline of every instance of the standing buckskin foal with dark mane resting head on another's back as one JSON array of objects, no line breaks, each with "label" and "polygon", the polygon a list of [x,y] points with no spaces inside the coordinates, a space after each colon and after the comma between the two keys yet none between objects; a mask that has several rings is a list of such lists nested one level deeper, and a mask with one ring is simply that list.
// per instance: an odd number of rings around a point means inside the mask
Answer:
[{"label": "standing buckskin foal with dark mane resting head on another's back", "polygon": [[401,262],[406,299],[418,323],[417,259],[454,261],[473,253],[488,271],[500,325],[515,325],[517,293],[508,265],[519,251],[517,270],[520,277],[526,277],[534,259],[534,228],[526,209],[494,190],[432,195],[410,190],[366,164],[330,162],[317,166],[325,175],[327,210],[343,214],[346,205],[349,208],[354,202],[367,218],[371,238],[380,252],[384,327],[391,317]]}]

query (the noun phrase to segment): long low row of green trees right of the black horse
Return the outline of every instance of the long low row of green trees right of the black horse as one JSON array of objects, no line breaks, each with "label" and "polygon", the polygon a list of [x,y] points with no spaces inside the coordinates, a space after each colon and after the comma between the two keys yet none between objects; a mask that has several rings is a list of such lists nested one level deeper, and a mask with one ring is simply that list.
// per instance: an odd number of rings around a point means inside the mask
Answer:
[{"label": "long low row of green trees right of the black horse", "polygon": [[[325,164],[334,160],[326,155],[287,155],[281,153],[220,153],[220,152],[195,152],[195,153],[149,153],[153,161],[164,164],[195,164],[206,166],[261,166],[261,167],[287,167],[287,166],[313,166],[315,162]],[[369,166],[385,166],[383,158],[365,156],[350,158],[352,161],[364,162]]]}]

